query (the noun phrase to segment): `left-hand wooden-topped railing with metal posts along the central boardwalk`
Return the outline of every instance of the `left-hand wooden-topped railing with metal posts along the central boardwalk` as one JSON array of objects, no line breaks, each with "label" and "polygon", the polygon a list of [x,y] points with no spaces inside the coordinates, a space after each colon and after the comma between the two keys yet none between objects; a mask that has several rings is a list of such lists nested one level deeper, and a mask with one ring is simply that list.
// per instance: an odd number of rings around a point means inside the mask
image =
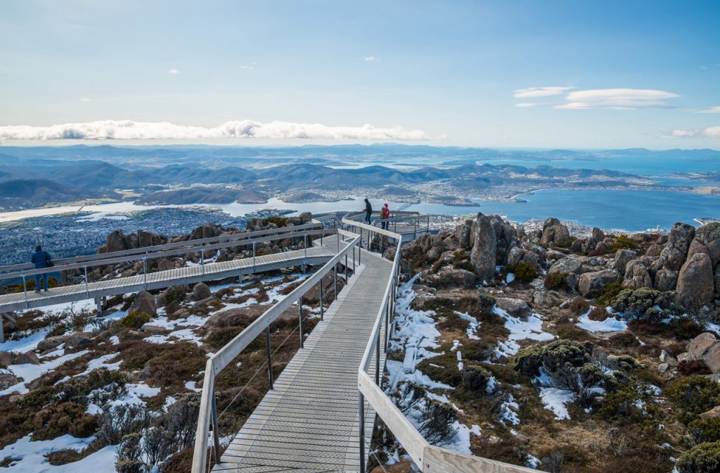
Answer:
[{"label": "left-hand wooden-topped railing with metal posts along the central boardwalk", "polygon": [[[281,314],[289,309],[292,304],[297,301],[298,304],[298,323],[300,327],[300,348],[303,348],[304,341],[302,335],[302,296],[310,291],[315,284],[320,284],[320,306],[322,307],[322,280],[323,276],[333,271],[336,275],[335,281],[337,281],[337,266],[343,264],[346,268],[346,278],[348,273],[349,265],[352,264],[353,268],[356,265],[356,247],[359,247],[360,237],[355,234],[350,234],[341,229],[330,229],[330,231],[337,235],[337,253],[330,259],[322,268],[317,272],[310,275],[300,286],[295,288],[289,293],[282,301],[266,310],[264,314],[258,317],[248,327],[240,332],[233,340],[228,342],[220,351],[212,355],[207,361],[205,366],[204,381],[202,385],[202,397],[200,400],[200,411],[197,422],[197,430],[195,432],[195,448],[194,456],[192,461],[192,473],[204,473],[208,464],[209,455],[209,437],[210,428],[212,426],[212,451],[215,452],[215,463],[220,463],[220,434],[219,425],[217,421],[217,401],[215,397],[215,378],[217,375],[228,366],[242,351],[253,342],[259,335],[265,332],[266,340],[266,353],[267,353],[267,369],[268,369],[268,381],[270,389],[273,389],[273,373],[272,373],[272,361],[271,361],[271,348],[270,348],[270,324],[274,322]],[[351,239],[346,240],[346,237]],[[342,245],[341,245],[342,238]],[[357,251],[359,254],[359,250]],[[352,254],[352,263],[348,262],[348,255]],[[359,264],[359,256],[357,260]],[[335,294],[337,296],[337,288],[335,288]],[[323,319],[323,310],[320,310],[320,319]]]}]

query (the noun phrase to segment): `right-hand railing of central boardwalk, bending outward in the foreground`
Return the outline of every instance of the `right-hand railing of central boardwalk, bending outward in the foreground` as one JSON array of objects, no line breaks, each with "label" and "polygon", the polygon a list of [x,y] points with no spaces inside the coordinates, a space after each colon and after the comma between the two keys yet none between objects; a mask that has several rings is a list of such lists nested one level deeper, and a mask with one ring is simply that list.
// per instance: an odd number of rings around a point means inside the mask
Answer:
[{"label": "right-hand railing of central boardwalk, bending outward in the foreground", "polygon": [[[366,224],[357,224],[368,231],[377,231],[374,227]],[[392,233],[380,230],[382,234]],[[382,298],[382,306],[377,312],[377,319],[372,327],[370,340],[365,348],[362,361],[358,369],[358,390],[359,390],[359,448],[360,448],[360,472],[366,472],[366,446],[370,446],[371,439],[365,438],[365,402],[376,412],[377,417],[392,432],[398,442],[408,452],[415,465],[423,473],[530,473],[534,469],[518,467],[516,465],[485,459],[479,456],[459,454],[446,448],[431,445],[418,432],[415,426],[402,414],[395,403],[387,397],[382,389],[382,373],[379,360],[380,350],[387,352],[389,333],[392,319],[395,312],[395,301],[397,299],[398,275],[400,273],[400,255],[402,236],[400,234],[388,235],[397,239],[395,257],[392,260],[392,273],[387,281],[387,287]],[[383,323],[384,322],[384,323]],[[381,328],[384,327],[384,331]],[[384,333],[383,333],[384,332]],[[375,379],[369,374],[370,363],[373,358],[377,366]]]}]

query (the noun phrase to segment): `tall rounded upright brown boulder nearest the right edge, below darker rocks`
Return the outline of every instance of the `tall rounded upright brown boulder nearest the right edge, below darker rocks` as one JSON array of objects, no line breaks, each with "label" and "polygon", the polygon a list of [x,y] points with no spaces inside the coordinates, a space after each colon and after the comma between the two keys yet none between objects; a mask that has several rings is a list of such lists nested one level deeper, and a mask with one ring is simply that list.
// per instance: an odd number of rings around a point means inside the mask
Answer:
[{"label": "tall rounded upright brown boulder nearest the right edge, below darker rocks", "polygon": [[710,257],[696,253],[688,259],[678,275],[676,301],[686,310],[698,313],[713,303],[714,276]]}]

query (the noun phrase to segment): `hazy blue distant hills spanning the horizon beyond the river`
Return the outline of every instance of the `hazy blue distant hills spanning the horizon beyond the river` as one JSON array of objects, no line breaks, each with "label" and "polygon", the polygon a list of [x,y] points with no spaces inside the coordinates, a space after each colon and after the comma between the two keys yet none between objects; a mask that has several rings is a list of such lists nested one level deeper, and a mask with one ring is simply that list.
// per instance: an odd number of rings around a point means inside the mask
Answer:
[{"label": "hazy blue distant hills spanning the horizon beyond the river", "polygon": [[[477,197],[487,189],[503,186],[508,187],[507,195],[513,189],[540,186],[643,185],[629,172],[544,164],[558,160],[582,160],[582,164],[601,167],[610,159],[652,164],[653,159],[674,162],[676,156],[683,156],[710,163],[706,167],[714,163],[720,166],[720,151],[705,149],[533,151],[386,144],[289,148],[3,146],[0,151],[0,207],[5,209],[118,198],[114,193],[118,189],[140,193],[142,203],[261,203],[278,193],[306,200],[322,197],[323,192],[334,193],[325,199],[335,200],[351,189],[382,189],[397,198],[445,202],[453,196]],[[532,164],[517,164],[525,161]],[[405,167],[390,166],[396,162]]]}]

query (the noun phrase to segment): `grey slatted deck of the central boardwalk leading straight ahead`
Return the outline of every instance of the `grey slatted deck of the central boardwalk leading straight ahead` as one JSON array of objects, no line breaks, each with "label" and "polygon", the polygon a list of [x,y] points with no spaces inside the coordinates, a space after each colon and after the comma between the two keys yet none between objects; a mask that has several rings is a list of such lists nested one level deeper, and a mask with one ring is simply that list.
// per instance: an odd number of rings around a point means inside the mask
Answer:
[{"label": "grey slatted deck of the central boardwalk leading straight ahead", "polygon": [[[359,471],[357,368],[391,272],[390,261],[363,250],[356,276],[213,472]],[[365,414],[366,438],[371,438],[375,413],[367,409]]]}]

